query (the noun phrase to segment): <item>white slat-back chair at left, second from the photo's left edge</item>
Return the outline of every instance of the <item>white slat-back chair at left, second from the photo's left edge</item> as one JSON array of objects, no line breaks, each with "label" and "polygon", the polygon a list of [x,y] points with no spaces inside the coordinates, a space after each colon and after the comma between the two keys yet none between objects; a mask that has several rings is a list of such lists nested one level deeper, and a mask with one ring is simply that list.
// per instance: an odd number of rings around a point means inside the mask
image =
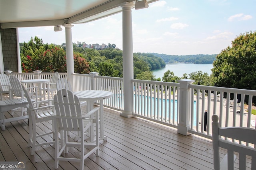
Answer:
[{"label": "white slat-back chair at left, second from the photo's left edge", "polygon": [[[11,84],[11,89],[10,89],[10,98],[13,98],[13,96],[16,97],[20,97],[20,98],[25,98],[24,96],[24,91],[22,89],[22,85],[20,83],[20,80],[18,78],[16,78],[15,76],[10,76],[10,84]],[[30,96],[32,99],[35,98],[35,100],[37,101],[37,87],[30,87],[30,88],[26,88],[26,90],[28,90],[28,96]],[[12,109],[12,115],[13,115],[13,111],[17,110],[17,109]],[[25,112],[24,107],[22,107],[21,110],[21,115],[23,116]]]}]

